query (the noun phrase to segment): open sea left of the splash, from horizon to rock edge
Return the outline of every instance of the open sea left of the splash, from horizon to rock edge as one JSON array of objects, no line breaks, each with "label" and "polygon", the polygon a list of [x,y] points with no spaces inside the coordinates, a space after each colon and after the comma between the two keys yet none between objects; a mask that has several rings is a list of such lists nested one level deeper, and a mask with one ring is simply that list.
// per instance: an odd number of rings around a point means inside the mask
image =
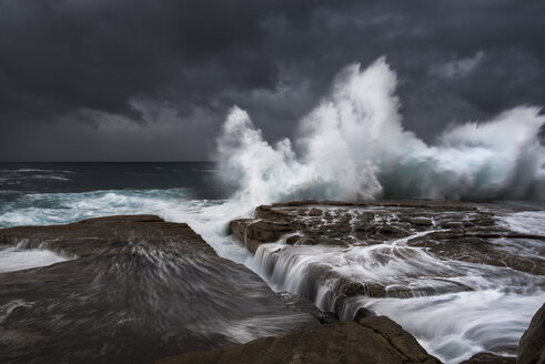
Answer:
[{"label": "open sea left of the splash, from horizon to rock edge", "polygon": [[0,163],[0,228],[158,214],[190,223],[221,255],[241,260],[245,252],[224,236],[229,195],[212,162]]}]

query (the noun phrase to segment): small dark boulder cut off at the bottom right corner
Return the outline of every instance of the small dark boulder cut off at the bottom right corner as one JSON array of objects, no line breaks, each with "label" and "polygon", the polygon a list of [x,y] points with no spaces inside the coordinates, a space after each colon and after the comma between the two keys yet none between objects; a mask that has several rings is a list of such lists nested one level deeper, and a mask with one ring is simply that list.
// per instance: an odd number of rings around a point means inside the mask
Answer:
[{"label": "small dark boulder cut off at the bottom right corner", "polygon": [[545,304],[536,312],[528,330],[521,337],[517,363],[545,363]]}]

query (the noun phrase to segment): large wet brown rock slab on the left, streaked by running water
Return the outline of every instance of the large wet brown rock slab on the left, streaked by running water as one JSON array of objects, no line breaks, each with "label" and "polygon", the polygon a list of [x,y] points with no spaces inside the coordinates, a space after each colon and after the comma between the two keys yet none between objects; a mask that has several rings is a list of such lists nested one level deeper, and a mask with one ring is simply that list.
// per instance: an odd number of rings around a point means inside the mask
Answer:
[{"label": "large wet brown rock slab on the left, streaked by running water", "polygon": [[3,229],[0,243],[70,257],[0,273],[1,363],[143,363],[319,325],[158,216]]}]

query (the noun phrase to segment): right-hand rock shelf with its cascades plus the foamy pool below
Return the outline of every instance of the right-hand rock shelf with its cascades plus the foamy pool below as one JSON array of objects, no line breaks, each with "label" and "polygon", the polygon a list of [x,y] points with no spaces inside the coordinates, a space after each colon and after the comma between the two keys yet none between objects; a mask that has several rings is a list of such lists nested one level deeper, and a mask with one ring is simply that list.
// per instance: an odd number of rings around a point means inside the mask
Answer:
[{"label": "right-hand rock shelf with its cascades plus the foamy pool below", "polygon": [[477,363],[514,357],[543,302],[543,216],[516,202],[302,201],[230,228],[274,286],[341,321],[385,314],[450,363],[487,352]]}]

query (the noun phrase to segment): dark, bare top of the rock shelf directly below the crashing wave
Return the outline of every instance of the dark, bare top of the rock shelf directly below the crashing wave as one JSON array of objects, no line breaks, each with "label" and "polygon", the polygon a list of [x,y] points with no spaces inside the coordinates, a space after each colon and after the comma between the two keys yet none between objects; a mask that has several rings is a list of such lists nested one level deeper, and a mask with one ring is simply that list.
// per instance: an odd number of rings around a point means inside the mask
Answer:
[{"label": "dark, bare top of the rock shelf directly below the crashing wave", "polygon": [[[392,200],[374,204],[302,201],[258,206],[253,219],[233,220],[230,228],[253,253],[261,244],[281,237],[286,237],[290,245],[341,247],[407,239],[408,245],[426,247],[450,260],[545,275],[542,260],[516,252],[505,254],[493,244],[494,239],[545,242],[545,236],[511,231],[493,218],[493,212],[453,201]],[[545,246],[539,253],[545,255]],[[377,287],[372,294],[385,292]]]}]

